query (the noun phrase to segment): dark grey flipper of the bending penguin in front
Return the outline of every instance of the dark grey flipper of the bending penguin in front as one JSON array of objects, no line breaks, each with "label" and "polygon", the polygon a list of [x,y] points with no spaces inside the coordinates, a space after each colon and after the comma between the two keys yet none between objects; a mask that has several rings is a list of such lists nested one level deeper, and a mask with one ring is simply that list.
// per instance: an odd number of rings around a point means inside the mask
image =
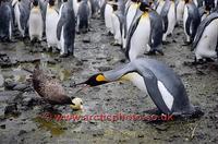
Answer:
[{"label": "dark grey flipper of the bending penguin in front", "polygon": [[165,104],[162,96],[158,88],[158,80],[155,74],[147,68],[140,68],[141,75],[144,77],[144,82],[147,88],[147,93],[158,107],[159,110],[164,113],[171,113],[167,105]]}]

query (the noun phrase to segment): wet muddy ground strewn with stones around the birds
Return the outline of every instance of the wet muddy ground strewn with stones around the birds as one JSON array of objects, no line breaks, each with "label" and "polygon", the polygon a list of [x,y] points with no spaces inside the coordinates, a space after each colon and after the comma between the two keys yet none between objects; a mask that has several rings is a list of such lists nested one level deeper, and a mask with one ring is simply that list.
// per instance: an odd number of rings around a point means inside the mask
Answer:
[{"label": "wet muddy ground strewn with stones around the birds", "polygon": [[[59,58],[58,53],[46,52],[46,43],[34,46],[28,39],[1,43],[0,82],[7,81],[8,88],[0,88],[0,143],[218,143],[218,65],[216,62],[193,67],[193,53],[183,45],[183,31],[177,27],[174,39],[164,46],[165,56],[150,58],[164,61],[182,79],[192,104],[199,106],[205,115],[192,120],[167,122],[148,121],[57,121],[41,104],[29,86],[31,73],[22,70],[34,69],[36,62],[48,74],[61,81],[71,96],[81,97],[83,111],[72,111],[69,106],[56,107],[62,115],[146,115],[155,108],[148,96],[131,83],[111,83],[88,88],[75,94],[70,87],[89,75],[124,64],[120,47],[111,46],[113,38],[106,35],[101,20],[92,20],[87,34],[76,35],[75,58]],[[8,55],[8,57],[5,56]],[[148,57],[148,56],[144,56]],[[8,60],[8,61],[7,61]],[[3,75],[3,79],[1,77]],[[16,87],[10,87],[15,83]],[[19,86],[17,86],[19,85]]]}]

